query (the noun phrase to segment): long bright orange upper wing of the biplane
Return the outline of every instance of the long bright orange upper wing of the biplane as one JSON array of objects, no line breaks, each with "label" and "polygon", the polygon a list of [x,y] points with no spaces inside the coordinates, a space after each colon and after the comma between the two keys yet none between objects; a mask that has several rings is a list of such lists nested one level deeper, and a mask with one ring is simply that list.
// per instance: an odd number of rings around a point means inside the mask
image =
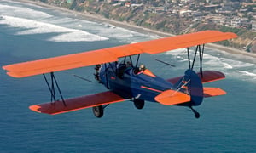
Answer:
[{"label": "long bright orange upper wing of the biplane", "polygon": [[142,53],[158,54],[172,49],[188,48],[199,44],[218,42],[235,37],[237,37],[236,34],[230,32],[200,31],[79,54],[68,54],[49,59],[5,65],[3,69],[9,71],[7,74],[11,77],[29,77],[52,71],[63,71],[83,66],[113,62],[117,61],[118,58],[128,55]]}]

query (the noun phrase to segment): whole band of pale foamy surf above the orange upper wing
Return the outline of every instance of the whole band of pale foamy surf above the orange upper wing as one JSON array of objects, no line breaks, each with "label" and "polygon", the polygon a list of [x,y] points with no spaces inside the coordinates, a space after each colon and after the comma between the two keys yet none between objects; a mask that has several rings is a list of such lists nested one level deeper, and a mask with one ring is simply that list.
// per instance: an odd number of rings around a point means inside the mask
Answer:
[{"label": "whole band of pale foamy surf above the orange upper wing", "polygon": [[[62,14],[61,12],[59,13]],[[49,41],[55,42],[93,42],[107,40],[108,37],[125,43],[154,39],[150,35],[148,37],[146,34],[113,26],[108,23],[79,20],[64,15],[63,18],[56,18],[50,12],[47,14],[39,9],[24,7],[19,3],[15,3],[14,6],[1,4],[0,15],[5,16],[5,19],[1,21],[2,24],[24,28],[23,31],[17,32],[17,35],[58,32],[59,34],[57,36],[48,39]],[[13,18],[11,19],[11,17]],[[90,31],[93,34],[85,33],[85,31]]]}]

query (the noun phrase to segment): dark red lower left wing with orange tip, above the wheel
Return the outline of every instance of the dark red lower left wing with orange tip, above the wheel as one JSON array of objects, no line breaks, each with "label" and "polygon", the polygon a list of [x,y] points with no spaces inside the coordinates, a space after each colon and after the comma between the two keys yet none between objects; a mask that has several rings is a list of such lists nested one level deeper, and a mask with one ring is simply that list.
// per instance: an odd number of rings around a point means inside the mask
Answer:
[{"label": "dark red lower left wing with orange tip, above the wheel", "polygon": [[103,92],[99,94],[91,94],[73,99],[65,99],[66,106],[62,101],[55,101],[54,103],[44,103],[38,105],[31,105],[29,108],[32,111],[39,113],[46,113],[50,115],[60,114],[68,111],[77,111],[84,108],[94,107],[98,105],[108,105],[125,101],[122,97],[113,92]]}]

